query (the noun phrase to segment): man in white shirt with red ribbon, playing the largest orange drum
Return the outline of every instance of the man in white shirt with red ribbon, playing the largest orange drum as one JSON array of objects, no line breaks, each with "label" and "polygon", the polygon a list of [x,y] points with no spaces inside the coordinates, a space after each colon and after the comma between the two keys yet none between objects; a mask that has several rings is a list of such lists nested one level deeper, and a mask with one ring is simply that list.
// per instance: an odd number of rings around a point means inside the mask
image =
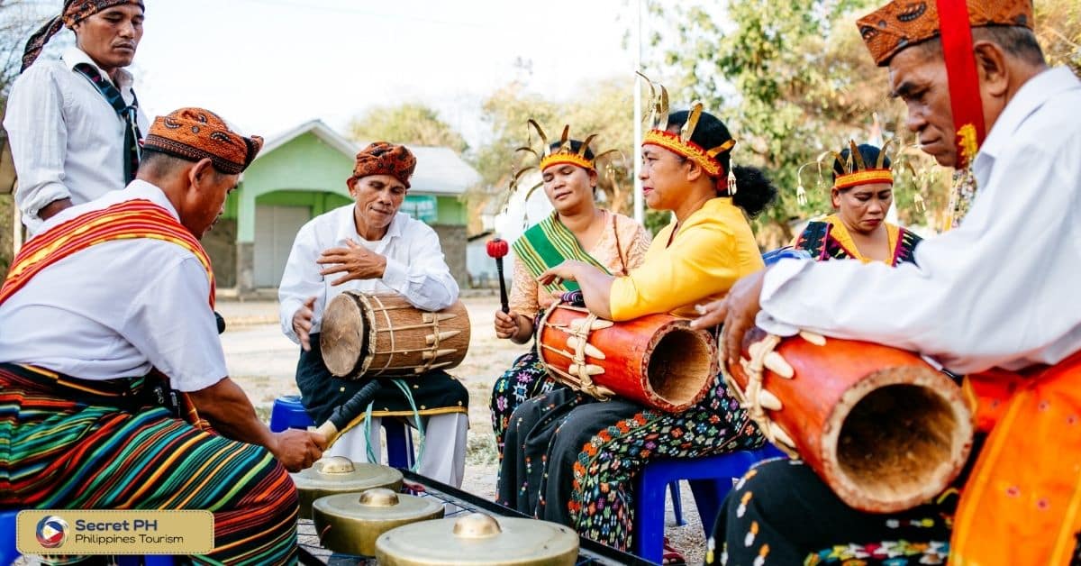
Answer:
[{"label": "man in white shirt with red ribbon, playing the largest orange drum", "polygon": [[730,363],[757,324],[966,374],[970,469],[925,505],[875,515],[802,463],[768,462],[729,496],[707,563],[1081,564],[1081,81],[1047,68],[1031,26],[1028,0],[895,0],[862,18],[908,128],[961,171],[963,222],[894,268],[783,260],[695,323],[723,321]]}]

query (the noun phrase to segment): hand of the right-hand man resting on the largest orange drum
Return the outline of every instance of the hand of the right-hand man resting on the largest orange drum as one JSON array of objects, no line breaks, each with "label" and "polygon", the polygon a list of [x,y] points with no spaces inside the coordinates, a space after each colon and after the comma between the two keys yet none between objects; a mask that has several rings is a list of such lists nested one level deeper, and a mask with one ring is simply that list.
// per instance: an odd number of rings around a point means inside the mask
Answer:
[{"label": "hand of the right-hand man resting on the largest orange drum", "polygon": [[723,325],[721,342],[721,358],[729,365],[739,360],[743,352],[743,338],[755,326],[755,317],[762,310],[759,297],[762,294],[762,282],[765,280],[765,269],[748,275],[736,281],[729,294],[720,301],[698,305],[702,315],[691,321],[691,328],[711,328]]}]

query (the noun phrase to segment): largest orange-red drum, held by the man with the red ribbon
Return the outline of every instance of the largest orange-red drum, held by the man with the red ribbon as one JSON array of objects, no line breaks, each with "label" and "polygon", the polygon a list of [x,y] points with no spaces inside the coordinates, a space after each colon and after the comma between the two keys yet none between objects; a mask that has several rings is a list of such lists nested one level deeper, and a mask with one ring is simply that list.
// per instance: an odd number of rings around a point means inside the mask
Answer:
[{"label": "largest orange-red drum, held by the man with the red ribbon", "polygon": [[961,387],[911,352],[801,332],[748,332],[733,395],[763,434],[852,508],[904,511],[957,477],[972,448]]}]

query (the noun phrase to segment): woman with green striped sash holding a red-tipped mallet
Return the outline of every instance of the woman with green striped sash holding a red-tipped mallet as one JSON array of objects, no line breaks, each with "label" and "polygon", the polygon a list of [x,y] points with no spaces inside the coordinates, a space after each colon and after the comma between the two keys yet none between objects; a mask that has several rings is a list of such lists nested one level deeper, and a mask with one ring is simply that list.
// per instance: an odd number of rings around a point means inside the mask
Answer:
[{"label": "woman with green striped sash holding a red-tipped mallet", "polygon": [[[545,269],[564,260],[577,260],[605,273],[626,275],[642,263],[650,246],[650,234],[641,224],[598,207],[593,198],[598,182],[596,163],[614,152],[595,156],[590,145],[596,134],[585,142],[572,140],[570,127],[563,129],[559,141],[549,144],[537,122],[530,120],[530,126],[536,130],[543,148],[539,153],[530,147],[520,149],[536,156],[538,166],[523,169],[515,177],[539,170],[545,195],[555,211],[525,231],[513,245],[510,312],[496,311],[495,333],[516,344],[525,344],[534,335],[536,317],[555,301],[553,293],[578,288],[574,281],[538,285],[536,278]],[[532,347],[496,380],[492,387],[492,429],[501,460],[510,414],[524,400],[547,393],[555,385]]]}]

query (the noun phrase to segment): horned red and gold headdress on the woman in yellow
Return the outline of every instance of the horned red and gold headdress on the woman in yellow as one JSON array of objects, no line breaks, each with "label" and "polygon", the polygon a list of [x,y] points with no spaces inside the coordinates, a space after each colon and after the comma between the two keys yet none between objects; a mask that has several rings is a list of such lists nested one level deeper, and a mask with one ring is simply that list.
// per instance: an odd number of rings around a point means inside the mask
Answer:
[{"label": "horned red and gold headdress on the woman in yellow", "polygon": [[665,89],[664,84],[653,82],[641,73],[638,73],[638,75],[645,79],[646,84],[650,85],[651,100],[650,116],[645,121],[650,130],[642,137],[642,145],[656,145],[669,152],[675,152],[698,163],[709,176],[719,177],[726,173],[729,194],[734,195],[736,193],[736,179],[732,172],[732,169],[734,169],[732,160],[729,159],[729,170],[724,171],[724,166],[717,159],[717,156],[724,152],[731,152],[736,145],[736,141],[734,139],[729,140],[709,149],[691,141],[691,137],[694,135],[694,129],[697,128],[698,119],[703,113],[703,104],[699,101],[691,103],[691,110],[688,114],[686,122],[680,128],[679,133],[668,131],[668,89]]}]

